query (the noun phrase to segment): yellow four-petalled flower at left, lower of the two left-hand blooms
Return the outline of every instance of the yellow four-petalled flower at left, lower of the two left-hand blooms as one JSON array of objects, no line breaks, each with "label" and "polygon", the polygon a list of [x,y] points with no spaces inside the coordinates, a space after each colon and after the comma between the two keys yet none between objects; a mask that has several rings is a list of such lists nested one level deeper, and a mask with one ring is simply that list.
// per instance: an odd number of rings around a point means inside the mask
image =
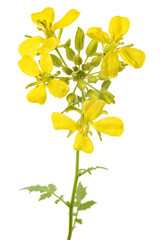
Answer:
[{"label": "yellow four-petalled flower at left, lower of the two left-hand blooms", "polygon": [[51,56],[49,54],[42,54],[40,57],[40,67],[42,71],[39,69],[37,62],[28,55],[24,55],[18,62],[18,65],[22,72],[37,79],[37,86],[27,95],[29,102],[43,105],[47,98],[46,86],[50,93],[57,98],[62,98],[68,93],[69,86],[65,82],[49,80],[47,84],[45,83],[47,74],[50,74],[53,69]]}]

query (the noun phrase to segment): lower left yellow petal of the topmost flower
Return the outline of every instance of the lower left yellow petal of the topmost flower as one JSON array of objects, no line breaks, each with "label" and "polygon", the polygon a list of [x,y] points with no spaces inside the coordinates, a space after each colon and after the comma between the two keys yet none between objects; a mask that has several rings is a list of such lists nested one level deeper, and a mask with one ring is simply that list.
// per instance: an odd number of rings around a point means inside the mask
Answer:
[{"label": "lower left yellow petal of the topmost flower", "polygon": [[18,52],[21,56],[28,55],[30,57],[35,57],[43,38],[40,36],[29,38],[23,41],[18,48]]}]

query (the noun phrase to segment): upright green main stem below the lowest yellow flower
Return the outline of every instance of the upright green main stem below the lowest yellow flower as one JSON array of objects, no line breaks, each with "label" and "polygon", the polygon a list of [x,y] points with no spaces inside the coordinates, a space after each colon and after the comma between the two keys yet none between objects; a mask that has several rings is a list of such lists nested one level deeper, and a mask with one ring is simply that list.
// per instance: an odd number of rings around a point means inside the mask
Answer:
[{"label": "upright green main stem below the lowest yellow flower", "polygon": [[76,188],[78,183],[78,176],[79,176],[79,151],[76,152],[76,169],[75,169],[75,178],[71,196],[71,202],[69,206],[69,232],[67,240],[71,239],[72,231],[73,231],[73,208],[74,208],[74,199],[76,194]]}]

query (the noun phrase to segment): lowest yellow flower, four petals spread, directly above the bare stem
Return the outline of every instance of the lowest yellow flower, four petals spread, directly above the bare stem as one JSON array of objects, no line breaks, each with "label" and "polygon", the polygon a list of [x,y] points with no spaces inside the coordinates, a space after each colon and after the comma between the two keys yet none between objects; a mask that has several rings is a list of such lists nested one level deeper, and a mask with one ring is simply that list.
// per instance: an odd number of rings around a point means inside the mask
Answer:
[{"label": "lowest yellow flower, four petals spread, directly above the bare stem", "polygon": [[65,129],[78,134],[75,137],[73,148],[81,150],[85,153],[92,153],[94,150],[93,143],[88,137],[90,131],[90,124],[94,129],[104,134],[119,137],[124,131],[124,125],[121,119],[117,117],[106,117],[97,122],[94,122],[102,113],[105,102],[103,100],[86,100],[82,105],[82,117],[76,123],[71,118],[62,113],[52,113],[52,122],[54,129]]}]

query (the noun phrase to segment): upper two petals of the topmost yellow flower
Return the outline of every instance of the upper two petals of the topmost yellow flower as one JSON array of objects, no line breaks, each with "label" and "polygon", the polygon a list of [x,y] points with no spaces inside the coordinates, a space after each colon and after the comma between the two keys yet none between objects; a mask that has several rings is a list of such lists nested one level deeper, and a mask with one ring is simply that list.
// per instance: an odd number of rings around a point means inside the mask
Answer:
[{"label": "upper two petals of the topmost yellow flower", "polygon": [[47,24],[47,28],[49,28],[51,25],[52,29],[56,30],[69,26],[79,17],[79,15],[80,13],[77,10],[71,9],[63,18],[53,24],[55,19],[54,9],[47,7],[41,12],[33,13],[31,18],[32,21],[40,27],[43,27],[43,24],[40,22],[45,22]]}]

